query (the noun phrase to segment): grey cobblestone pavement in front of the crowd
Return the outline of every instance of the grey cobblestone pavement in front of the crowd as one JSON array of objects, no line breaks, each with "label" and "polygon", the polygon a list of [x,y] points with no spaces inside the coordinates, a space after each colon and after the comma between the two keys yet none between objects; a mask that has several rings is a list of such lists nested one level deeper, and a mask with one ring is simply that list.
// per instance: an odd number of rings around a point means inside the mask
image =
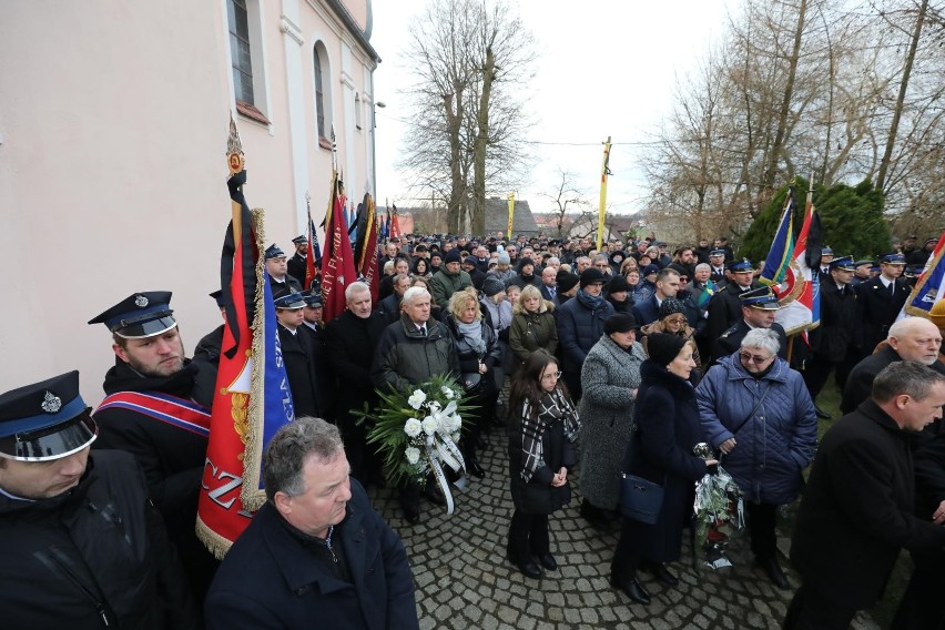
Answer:
[{"label": "grey cobblestone pavement in front of the crowd", "polygon": [[[608,580],[619,526],[597,532],[578,515],[579,471],[571,480],[571,505],[551,516],[551,552],[558,570],[546,571],[540,582],[524,577],[505,559],[512,512],[505,445],[505,429],[494,428],[489,448],[479,456],[487,477],[470,478],[464,492],[454,492],[453,516],[421,499],[421,521],[410,526],[389,489],[370,489],[375,508],[407,547],[421,629],[781,627],[793,593],[772,586],[753,565],[744,537],[731,545],[729,558],[734,566],[717,571],[693,569],[685,540],[683,557],[670,566],[680,578],[679,587],[664,587],[640,573],[652,602],[631,603]],[[788,541],[780,543],[785,551]],[[786,559],[781,561],[788,572]],[[789,579],[794,587],[800,583],[793,571]],[[853,628],[878,627],[861,613]]]}]

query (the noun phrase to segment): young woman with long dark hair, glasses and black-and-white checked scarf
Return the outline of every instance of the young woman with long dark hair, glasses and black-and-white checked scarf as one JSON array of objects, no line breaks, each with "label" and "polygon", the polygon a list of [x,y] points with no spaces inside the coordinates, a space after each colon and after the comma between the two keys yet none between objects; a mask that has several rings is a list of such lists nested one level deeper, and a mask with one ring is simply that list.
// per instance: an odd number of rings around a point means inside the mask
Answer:
[{"label": "young woman with long dark hair, glasses and black-and-white checked scarf", "polygon": [[577,463],[578,414],[560,380],[558,360],[535,350],[516,374],[509,395],[509,476],[515,504],[508,559],[526,577],[553,571],[548,515],[571,500],[568,471]]}]

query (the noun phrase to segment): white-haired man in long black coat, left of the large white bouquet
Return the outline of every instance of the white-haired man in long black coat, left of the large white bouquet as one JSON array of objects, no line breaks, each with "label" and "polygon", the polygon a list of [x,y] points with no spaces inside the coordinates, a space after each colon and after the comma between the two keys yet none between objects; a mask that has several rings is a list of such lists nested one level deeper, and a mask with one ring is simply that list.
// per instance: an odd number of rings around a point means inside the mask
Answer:
[{"label": "white-haired man in long black coat, left of the large white bouquet", "polygon": [[365,283],[349,284],[345,288],[345,312],[325,327],[328,365],[337,392],[333,417],[345,438],[352,475],[367,485],[379,476],[380,463],[365,441],[364,425],[358,425],[350,411],[360,411],[365,405],[370,409],[377,406],[370,366],[386,323],[377,311],[370,311],[370,287]]}]

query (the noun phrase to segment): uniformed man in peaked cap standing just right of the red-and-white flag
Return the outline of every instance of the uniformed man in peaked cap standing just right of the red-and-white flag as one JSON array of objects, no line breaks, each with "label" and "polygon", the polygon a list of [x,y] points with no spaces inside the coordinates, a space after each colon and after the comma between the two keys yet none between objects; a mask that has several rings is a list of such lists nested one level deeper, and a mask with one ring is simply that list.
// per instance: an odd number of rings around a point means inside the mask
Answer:
[{"label": "uniformed man in peaked cap standing just right of the red-and-white flag", "polygon": [[[811,355],[804,366],[804,383],[816,404],[817,394],[835,373],[841,392],[860,356],[860,312],[856,293],[850,286],[853,258],[842,256],[830,263],[830,280],[821,283],[821,325],[811,332]],[[817,408],[817,416],[826,414]]]}]

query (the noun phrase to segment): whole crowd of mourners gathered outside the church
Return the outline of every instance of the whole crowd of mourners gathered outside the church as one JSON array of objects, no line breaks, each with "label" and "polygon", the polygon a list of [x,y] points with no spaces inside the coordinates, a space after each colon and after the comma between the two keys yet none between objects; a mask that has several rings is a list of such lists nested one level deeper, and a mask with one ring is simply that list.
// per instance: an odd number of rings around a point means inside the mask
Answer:
[{"label": "whole crowd of mourners gathered outside the church", "polygon": [[[299,281],[307,243],[293,240],[292,257],[276,244],[264,253],[299,419],[271,440],[266,505],[222,563],[194,522],[223,326],[186,358],[171,293],[139,292],[89,322],[108,328],[115,357],[93,413],[77,373],[0,396],[0,572],[11,585],[0,599],[22,614],[8,617],[13,627],[303,628],[317,614],[329,627],[416,628],[404,546],[365,492],[386,482],[384,461],[356,413],[376,407],[378,390],[438,375],[475,406],[459,445],[466,474],[508,478],[508,560],[527,578],[558,569],[550,517],[571,502],[580,469],[588,527],[620,520],[612,586],[649,603],[638,571],[678,585],[669,563],[694,482],[721,461],[745,498],[755,560],[781,589],[792,585],[778,508],[803,495],[792,545],[803,585],[785,627],[844,628],[881,596],[901,548],[916,570],[896,627],[945,622],[929,596],[945,587],[945,431],[933,423],[945,404],[945,302],[931,318],[898,319],[904,272],[934,240],[875,261],[824,248],[806,352],[725,238],[672,253],[652,237],[600,251],[587,240],[390,238],[377,298],[350,283],[327,323],[317,281]],[[831,374],[847,416],[817,449],[817,417],[830,417],[815,400]],[[487,470],[478,454],[502,425],[508,469]],[[621,472],[663,488],[654,522],[621,519]],[[409,524],[423,501],[446,502],[421,486],[396,488]]]}]

